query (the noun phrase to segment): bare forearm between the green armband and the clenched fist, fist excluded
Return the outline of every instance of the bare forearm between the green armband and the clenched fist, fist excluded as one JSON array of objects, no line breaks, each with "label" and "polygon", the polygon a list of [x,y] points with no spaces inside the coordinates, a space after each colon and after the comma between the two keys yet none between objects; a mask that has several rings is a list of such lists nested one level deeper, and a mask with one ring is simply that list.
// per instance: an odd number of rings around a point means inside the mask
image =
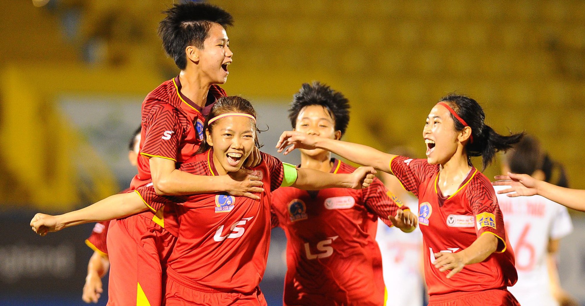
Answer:
[{"label": "bare forearm between the green armband and the clenched fist, fist excluded", "polygon": [[350,188],[349,174],[333,174],[315,169],[298,169],[297,180],[292,187],[303,190],[321,190],[327,188]]}]

